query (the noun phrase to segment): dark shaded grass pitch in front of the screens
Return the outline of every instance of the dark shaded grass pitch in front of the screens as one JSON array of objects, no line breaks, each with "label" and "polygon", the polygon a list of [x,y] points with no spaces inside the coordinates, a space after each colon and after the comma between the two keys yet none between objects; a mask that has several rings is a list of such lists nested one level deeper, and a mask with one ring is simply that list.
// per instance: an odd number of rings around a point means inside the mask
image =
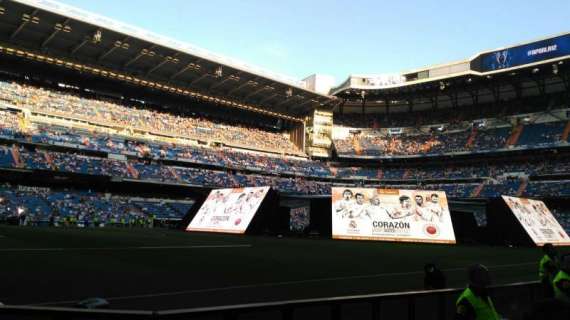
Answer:
[{"label": "dark shaded grass pitch in front of the screens", "polygon": [[450,287],[465,268],[495,283],[536,280],[537,248],[194,234],[173,230],[0,226],[0,302],[163,310],[421,289],[435,262]]}]

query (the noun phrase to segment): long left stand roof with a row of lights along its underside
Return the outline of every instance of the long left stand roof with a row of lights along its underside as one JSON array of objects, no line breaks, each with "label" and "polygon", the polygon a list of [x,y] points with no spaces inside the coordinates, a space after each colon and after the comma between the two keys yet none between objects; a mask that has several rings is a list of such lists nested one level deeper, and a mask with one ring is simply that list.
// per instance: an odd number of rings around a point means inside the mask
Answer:
[{"label": "long left stand roof with a row of lights along its underside", "polygon": [[50,0],[0,0],[1,53],[289,120],[334,98],[302,81]]}]

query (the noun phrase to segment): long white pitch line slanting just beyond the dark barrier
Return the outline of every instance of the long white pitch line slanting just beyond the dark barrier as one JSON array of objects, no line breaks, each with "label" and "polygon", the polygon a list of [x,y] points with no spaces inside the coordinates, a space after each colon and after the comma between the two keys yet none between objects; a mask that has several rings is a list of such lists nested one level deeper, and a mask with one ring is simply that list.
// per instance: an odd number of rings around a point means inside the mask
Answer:
[{"label": "long white pitch line slanting just beyond the dark barrier", "polygon": [[[511,267],[517,267],[517,266],[523,266],[523,265],[534,265],[534,264],[536,264],[536,262],[522,262],[522,263],[500,264],[500,265],[495,265],[495,266],[488,266],[487,268],[489,268],[489,269],[501,269],[501,268],[511,268]],[[449,268],[449,269],[443,269],[443,271],[452,271],[452,272],[454,272],[454,271],[465,271],[465,268]],[[239,286],[219,287],[219,288],[193,289],[193,290],[184,290],[184,291],[171,291],[171,292],[162,292],[162,293],[138,294],[138,295],[131,295],[131,296],[107,297],[105,299],[109,300],[109,301],[131,300],[131,299],[177,296],[177,295],[192,294],[192,293],[227,291],[227,290],[236,290],[236,289],[273,287],[273,286],[295,285],[295,284],[338,281],[338,280],[372,279],[372,278],[408,276],[408,275],[418,275],[418,274],[424,274],[424,271],[392,272],[392,273],[378,273],[378,274],[359,275],[359,276],[331,277],[331,278],[293,280],[293,281],[281,281],[281,282],[267,282],[267,283],[246,284],[246,285],[239,285]],[[52,305],[52,304],[76,303],[79,301],[80,300],[52,301],[52,302],[34,303],[34,304],[30,304],[30,305],[32,305],[32,306],[45,306],[45,305]]]}]

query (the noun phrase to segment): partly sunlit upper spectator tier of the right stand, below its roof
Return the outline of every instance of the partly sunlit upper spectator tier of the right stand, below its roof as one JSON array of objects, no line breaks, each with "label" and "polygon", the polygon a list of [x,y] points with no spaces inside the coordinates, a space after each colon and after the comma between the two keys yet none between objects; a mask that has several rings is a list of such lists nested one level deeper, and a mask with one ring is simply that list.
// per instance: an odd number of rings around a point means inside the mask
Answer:
[{"label": "partly sunlit upper spectator tier of the right stand, below its roof", "polygon": [[[553,116],[554,112],[556,116]],[[486,154],[568,145],[568,109],[511,118],[440,124],[419,128],[339,128],[334,140],[340,158],[406,158]],[[562,118],[564,117],[564,118]],[[540,122],[527,123],[530,119]],[[342,134],[341,134],[342,136]]]}]

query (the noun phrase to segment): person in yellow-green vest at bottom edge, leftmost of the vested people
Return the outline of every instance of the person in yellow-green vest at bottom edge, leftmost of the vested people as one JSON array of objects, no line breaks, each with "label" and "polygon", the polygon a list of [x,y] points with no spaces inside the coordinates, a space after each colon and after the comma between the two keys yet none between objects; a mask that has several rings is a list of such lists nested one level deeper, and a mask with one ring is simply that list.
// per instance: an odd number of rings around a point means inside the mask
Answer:
[{"label": "person in yellow-green vest at bottom edge, leftmost of the vested people", "polygon": [[487,287],[491,284],[489,270],[482,264],[469,267],[469,286],[455,303],[456,320],[500,320],[489,297]]}]

